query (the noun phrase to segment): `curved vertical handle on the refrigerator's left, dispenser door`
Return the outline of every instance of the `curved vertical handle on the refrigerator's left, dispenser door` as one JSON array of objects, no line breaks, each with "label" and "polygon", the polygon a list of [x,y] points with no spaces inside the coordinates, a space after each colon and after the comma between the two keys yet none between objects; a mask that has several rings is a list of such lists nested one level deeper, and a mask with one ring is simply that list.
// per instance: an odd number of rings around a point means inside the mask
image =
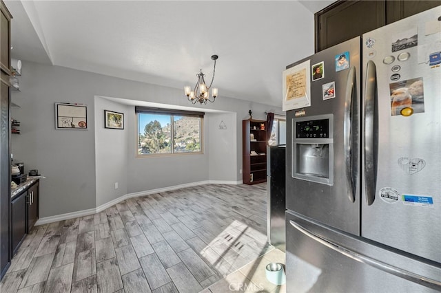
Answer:
[{"label": "curved vertical handle on the refrigerator's left, dispenser door", "polygon": [[347,76],[346,83],[346,97],[345,97],[345,122],[344,122],[344,131],[345,133],[343,138],[343,144],[345,148],[345,177],[346,177],[346,185],[348,190],[349,200],[351,202],[355,202],[355,186],[354,186],[354,175],[353,175],[353,166],[351,155],[355,155],[355,153],[351,153],[352,150],[352,115],[353,115],[353,94],[354,88],[356,85],[356,67],[351,67],[349,69],[349,74]]}]

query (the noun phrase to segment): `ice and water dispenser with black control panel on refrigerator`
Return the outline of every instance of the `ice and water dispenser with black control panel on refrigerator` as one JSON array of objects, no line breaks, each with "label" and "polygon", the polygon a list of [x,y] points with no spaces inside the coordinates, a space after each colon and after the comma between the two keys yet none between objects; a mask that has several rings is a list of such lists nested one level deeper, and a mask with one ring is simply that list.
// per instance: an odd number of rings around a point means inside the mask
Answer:
[{"label": "ice and water dispenser with black control panel on refrigerator", "polygon": [[292,120],[292,177],[334,184],[334,115]]}]

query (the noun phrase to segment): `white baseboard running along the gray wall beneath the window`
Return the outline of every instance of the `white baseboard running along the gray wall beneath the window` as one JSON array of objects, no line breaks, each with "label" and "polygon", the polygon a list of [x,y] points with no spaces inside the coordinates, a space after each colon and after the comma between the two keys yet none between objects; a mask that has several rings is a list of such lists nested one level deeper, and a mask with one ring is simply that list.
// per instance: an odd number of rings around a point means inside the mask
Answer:
[{"label": "white baseboard running along the gray wall beneath the window", "polygon": [[110,206],[114,206],[115,204],[122,202],[123,200],[125,200],[127,198],[152,195],[154,193],[163,193],[165,191],[176,191],[177,189],[192,187],[192,186],[199,186],[199,185],[204,185],[204,184],[233,184],[233,185],[237,185],[237,184],[242,184],[242,181],[206,180],[206,181],[192,182],[192,183],[186,183],[186,184],[179,184],[179,185],[169,186],[169,187],[164,187],[164,188],[156,188],[156,189],[152,189],[150,191],[140,191],[138,193],[127,193],[126,195],[122,195],[121,197],[113,199],[110,202],[106,202],[105,204],[101,204],[101,206],[97,206],[96,208],[90,208],[88,210],[79,210],[77,212],[65,213],[65,214],[61,214],[61,215],[40,218],[37,220],[37,223],[35,223],[35,226],[49,224],[49,223],[53,223],[55,221],[63,221],[66,219],[74,219],[76,217],[84,217],[84,216],[88,216],[88,215],[94,215],[96,213],[102,212],[106,208],[110,208]]}]

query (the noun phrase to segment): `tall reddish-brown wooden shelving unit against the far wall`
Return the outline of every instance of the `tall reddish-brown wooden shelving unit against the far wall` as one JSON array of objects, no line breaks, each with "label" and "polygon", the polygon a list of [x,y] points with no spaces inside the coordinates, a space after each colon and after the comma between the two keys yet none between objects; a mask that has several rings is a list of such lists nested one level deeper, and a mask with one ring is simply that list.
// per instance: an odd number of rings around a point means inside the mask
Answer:
[{"label": "tall reddish-brown wooden shelving unit against the far wall", "polygon": [[267,122],[247,119],[242,122],[243,183],[267,182]]}]

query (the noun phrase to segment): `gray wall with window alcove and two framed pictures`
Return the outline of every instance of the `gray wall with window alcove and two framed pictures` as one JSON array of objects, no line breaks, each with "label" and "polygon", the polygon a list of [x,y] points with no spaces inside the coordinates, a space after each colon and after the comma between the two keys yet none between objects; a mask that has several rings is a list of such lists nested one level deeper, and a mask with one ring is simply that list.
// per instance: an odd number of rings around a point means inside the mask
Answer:
[{"label": "gray wall with window alcove and two framed pictures", "polygon": [[[221,95],[212,104],[191,105],[182,89],[30,62],[23,62],[20,89],[12,93],[12,102],[21,106],[11,110],[12,118],[21,122],[21,135],[11,140],[12,153],[14,162],[25,163],[25,171],[39,169],[46,177],[40,184],[40,217],[96,208],[126,193],[207,180],[240,181],[242,120],[249,118],[249,109],[256,119],[265,119],[265,111],[281,111],[279,105]],[[206,114],[203,155],[141,159],[134,155],[133,107],[100,96],[224,113]],[[88,130],[56,130],[55,102],[88,105]],[[127,113],[123,131],[104,129],[107,108]],[[221,132],[216,127],[224,118],[228,129]],[[119,189],[114,189],[114,182],[119,182]]]}]

